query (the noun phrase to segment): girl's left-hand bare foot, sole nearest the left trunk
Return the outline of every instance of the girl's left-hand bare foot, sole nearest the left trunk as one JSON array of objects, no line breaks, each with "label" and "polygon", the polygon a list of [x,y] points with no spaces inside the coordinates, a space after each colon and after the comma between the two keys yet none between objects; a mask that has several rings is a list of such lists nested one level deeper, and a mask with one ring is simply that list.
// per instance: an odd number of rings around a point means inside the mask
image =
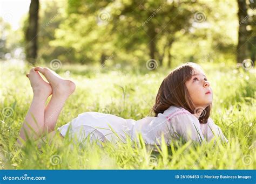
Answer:
[{"label": "girl's left-hand bare foot, sole nearest the left trunk", "polygon": [[35,68],[31,68],[29,74],[26,74],[26,76],[30,80],[34,96],[40,95],[47,99],[52,94],[51,85],[43,80],[39,72],[35,71]]}]

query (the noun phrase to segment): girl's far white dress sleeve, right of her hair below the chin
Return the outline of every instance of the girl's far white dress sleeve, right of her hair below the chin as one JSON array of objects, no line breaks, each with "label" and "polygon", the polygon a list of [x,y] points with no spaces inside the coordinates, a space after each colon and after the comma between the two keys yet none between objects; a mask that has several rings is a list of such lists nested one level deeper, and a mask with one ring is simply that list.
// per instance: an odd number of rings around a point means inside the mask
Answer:
[{"label": "girl's far white dress sleeve, right of her hair below the chin", "polygon": [[225,141],[226,143],[228,142],[227,138],[224,136],[223,132],[221,131],[221,129],[219,128],[218,125],[214,124],[212,118],[208,118],[207,121],[207,141],[211,141],[212,138],[216,137],[220,137],[221,140]]}]

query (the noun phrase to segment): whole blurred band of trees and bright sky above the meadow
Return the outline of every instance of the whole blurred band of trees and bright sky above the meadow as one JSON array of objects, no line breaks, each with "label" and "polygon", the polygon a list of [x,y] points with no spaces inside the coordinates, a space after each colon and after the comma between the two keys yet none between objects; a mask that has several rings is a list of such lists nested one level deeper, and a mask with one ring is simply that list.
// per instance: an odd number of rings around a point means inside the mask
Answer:
[{"label": "whole blurred band of trees and bright sky above the meadow", "polygon": [[255,0],[2,0],[0,59],[55,69],[156,69],[189,61],[252,67],[255,8]]}]

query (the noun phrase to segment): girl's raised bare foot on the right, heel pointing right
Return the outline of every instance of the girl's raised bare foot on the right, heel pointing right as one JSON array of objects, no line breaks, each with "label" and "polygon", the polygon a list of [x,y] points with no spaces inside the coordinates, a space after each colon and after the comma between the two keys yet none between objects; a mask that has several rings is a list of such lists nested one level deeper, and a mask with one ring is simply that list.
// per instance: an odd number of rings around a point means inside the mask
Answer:
[{"label": "girl's raised bare foot on the right, heel pointing right", "polygon": [[53,95],[68,97],[75,91],[76,84],[70,80],[63,79],[49,68],[36,67],[36,71],[42,73],[52,87]]}]

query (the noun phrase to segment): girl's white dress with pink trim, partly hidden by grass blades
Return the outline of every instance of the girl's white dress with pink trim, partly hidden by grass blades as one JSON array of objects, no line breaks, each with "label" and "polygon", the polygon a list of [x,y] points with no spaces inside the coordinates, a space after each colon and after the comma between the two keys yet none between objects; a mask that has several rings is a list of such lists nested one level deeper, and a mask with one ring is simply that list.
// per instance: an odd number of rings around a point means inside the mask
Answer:
[{"label": "girl's white dress with pink trim, partly hidden by grass blades", "polygon": [[228,141],[211,118],[208,118],[207,123],[201,124],[196,116],[176,106],[171,106],[157,117],[145,117],[138,121],[100,112],[84,112],[57,130],[62,136],[69,132],[71,138],[76,136],[80,142],[89,135],[90,140],[108,140],[112,143],[125,143],[127,136],[138,141],[138,133],[142,134],[148,145],[160,145],[161,134],[164,135],[167,144],[173,139],[179,139],[180,136],[186,141],[191,139],[200,143],[211,141],[214,136]]}]

